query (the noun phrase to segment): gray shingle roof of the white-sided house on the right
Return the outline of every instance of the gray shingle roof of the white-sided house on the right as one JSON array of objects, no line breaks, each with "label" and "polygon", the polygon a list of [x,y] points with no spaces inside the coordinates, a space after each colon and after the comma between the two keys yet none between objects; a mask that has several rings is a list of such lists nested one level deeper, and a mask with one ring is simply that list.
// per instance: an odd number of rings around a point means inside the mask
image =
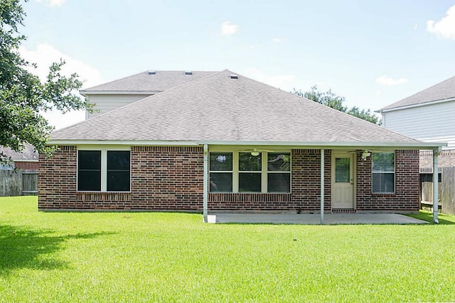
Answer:
[{"label": "gray shingle roof of the white-sided house on the right", "polygon": [[439,100],[450,100],[455,97],[455,77],[449,78],[442,81],[432,87],[428,87],[426,90],[417,92],[410,97],[406,97],[403,100],[395,102],[391,105],[387,105],[378,112],[383,110],[391,110],[393,108],[405,107],[410,105],[419,105],[427,102],[439,101]]}]

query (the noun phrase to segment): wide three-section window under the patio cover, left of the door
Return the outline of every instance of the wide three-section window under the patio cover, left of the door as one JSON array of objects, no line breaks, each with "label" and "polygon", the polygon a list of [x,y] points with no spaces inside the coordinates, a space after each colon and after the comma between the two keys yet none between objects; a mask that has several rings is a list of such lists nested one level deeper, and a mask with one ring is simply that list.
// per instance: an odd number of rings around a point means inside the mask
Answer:
[{"label": "wide three-section window under the patio cover, left of the door", "polygon": [[289,193],[289,152],[210,152],[210,192]]}]

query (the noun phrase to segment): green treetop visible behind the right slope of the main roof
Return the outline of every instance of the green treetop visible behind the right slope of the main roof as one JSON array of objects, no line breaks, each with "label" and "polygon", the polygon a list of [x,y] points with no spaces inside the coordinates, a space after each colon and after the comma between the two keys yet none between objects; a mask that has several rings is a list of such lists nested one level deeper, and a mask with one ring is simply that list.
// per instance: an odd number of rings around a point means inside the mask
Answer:
[{"label": "green treetop visible behind the right slope of the main roof", "polygon": [[340,112],[346,112],[354,117],[358,117],[360,119],[364,119],[368,122],[374,124],[380,124],[380,119],[376,117],[369,109],[368,110],[360,110],[358,107],[351,107],[348,108],[343,103],[346,101],[345,97],[341,97],[336,95],[332,90],[328,90],[326,92],[321,92],[317,85],[311,87],[311,90],[308,92],[301,92],[301,90],[296,90],[294,88],[294,95],[298,95],[300,97],[305,97],[306,99],[313,100],[315,102],[321,103],[322,105],[326,105],[328,107],[332,107],[335,110],[339,110]]}]

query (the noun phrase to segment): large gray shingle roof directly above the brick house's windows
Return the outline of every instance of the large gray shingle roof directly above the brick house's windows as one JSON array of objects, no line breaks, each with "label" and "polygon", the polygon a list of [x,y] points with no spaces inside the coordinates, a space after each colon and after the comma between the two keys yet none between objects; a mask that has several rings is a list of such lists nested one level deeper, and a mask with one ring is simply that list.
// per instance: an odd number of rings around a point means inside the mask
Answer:
[{"label": "large gray shingle roof directly above the brick house's windows", "polygon": [[414,142],[229,70],[53,132],[51,140]]}]

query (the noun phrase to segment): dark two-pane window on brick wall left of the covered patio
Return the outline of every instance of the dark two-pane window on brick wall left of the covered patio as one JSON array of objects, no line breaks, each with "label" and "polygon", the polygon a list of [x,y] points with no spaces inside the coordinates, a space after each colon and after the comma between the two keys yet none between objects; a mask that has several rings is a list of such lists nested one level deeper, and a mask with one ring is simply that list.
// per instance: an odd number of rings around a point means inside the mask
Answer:
[{"label": "dark two-pane window on brick wall left of the covered patio", "polygon": [[77,191],[130,191],[130,151],[77,151]]}]

